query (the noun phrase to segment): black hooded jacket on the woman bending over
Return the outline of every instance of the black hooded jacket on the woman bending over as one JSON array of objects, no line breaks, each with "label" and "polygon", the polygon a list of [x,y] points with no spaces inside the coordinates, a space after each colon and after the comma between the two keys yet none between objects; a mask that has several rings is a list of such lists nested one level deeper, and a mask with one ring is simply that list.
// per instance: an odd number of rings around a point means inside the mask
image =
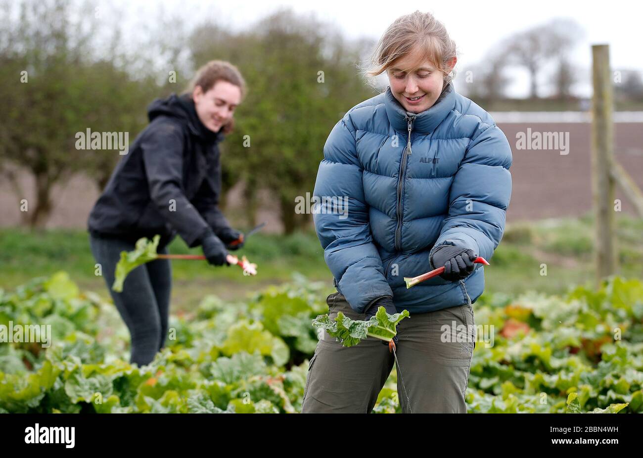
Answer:
[{"label": "black hooded jacket on the woman bending over", "polygon": [[150,124],[116,165],[92,208],[89,232],[129,241],[160,234],[159,246],[179,234],[192,247],[208,230],[218,235],[229,229],[217,207],[221,131],[203,125],[187,95],[154,100],[148,116]]}]

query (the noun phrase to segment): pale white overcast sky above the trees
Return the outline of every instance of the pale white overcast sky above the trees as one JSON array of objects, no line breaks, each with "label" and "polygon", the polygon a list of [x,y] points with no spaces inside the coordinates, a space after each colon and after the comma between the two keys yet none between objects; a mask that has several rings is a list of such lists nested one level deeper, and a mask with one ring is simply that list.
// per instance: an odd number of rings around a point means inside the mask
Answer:
[{"label": "pale white overcast sky above the trees", "polygon": [[[110,2],[112,3],[112,2]],[[101,4],[101,2],[99,2]],[[532,26],[547,23],[554,17],[574,19],[585,30],[579,42],[575,64],[590,68],[592,44],[610,44],[613,69],[643,71],[643,3],[638,1],[561,1],[540,0],[527,8],[517,1],[350,1],[323,0],[306,2],[280,0],[207,1],[207,0],[118,0],[129,20],[140,21],[150,12],[163,7],[167,14],[193,18],[199,23],[211,17],[234,28],[243,28],[279,7],[291,7],[296,12],[314,12],[318,19],[337,24],[352,38],[367,36],[378,39],[396,17],[415,10],[431,12],[444,23],[456,42],[460,56],[456,70],[480,62],[494,43]],[[152,15],[153,16],[153,15]],[[127,30],[123,31],[127,33]],[[510,95],[524,96],[528,89],[526,74],[516,75]],[[589,81],[588,75],[586,81]],[[588,94],[588,84],[578,88]]]}]

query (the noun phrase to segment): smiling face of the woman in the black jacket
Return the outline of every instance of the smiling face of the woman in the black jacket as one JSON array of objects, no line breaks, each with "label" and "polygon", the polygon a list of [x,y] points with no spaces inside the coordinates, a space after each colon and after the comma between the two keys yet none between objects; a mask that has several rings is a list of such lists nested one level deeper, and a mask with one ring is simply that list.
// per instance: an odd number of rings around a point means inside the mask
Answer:
[{"label": "smiling face of the woman in the black jacket", "polygon": [[196,86],[192,92],[199,120],[212,132],[228,124],[241,101],[241,89],[230,82],[219,80],[207,92]]}]

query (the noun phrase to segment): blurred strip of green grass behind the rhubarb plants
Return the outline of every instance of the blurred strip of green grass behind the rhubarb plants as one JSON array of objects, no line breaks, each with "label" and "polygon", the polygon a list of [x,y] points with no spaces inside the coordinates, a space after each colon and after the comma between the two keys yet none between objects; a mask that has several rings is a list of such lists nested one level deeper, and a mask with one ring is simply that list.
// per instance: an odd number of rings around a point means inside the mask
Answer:
[{"label": "blurred strip of green grass behind the rhubarb plants", "polygon": [[[643,279],[643,220],[619,215],[617,226],[620,274]],[[592,237],[590,217],[507,224],[491,266],[485,268],[485,291],[561,293],[572,284],[592,284]],[[189,250],[181,239],[175,239],[169,249],[200,253],[199,248]],[[173,261],[173,307],[192,309],[206,294],[226,300],[244,298],[270,284],[291,280],[294,272],[327,281],[332,289],[332,276],[313,232],[255,234],[240,252],[257,262],[257,277],[244,277],[233,268],[213,268],[204,261]],[[547,276],[540,275],[543,263]],[[82,288],[107,297],[104,281],[94,275],[94,264],[84,231],[0,230],[0,288],[12,289],[32,277],[66,270]]]}]

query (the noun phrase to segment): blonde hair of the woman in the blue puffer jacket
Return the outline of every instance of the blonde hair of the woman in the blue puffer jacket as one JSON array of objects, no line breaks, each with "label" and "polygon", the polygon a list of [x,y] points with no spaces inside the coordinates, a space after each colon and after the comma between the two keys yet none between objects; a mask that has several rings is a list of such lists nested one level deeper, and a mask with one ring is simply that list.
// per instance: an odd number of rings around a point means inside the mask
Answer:
[{"label": "blonde hair of the woman in the blue puffer jacket", "polygon": [[[388,26],[377,42],[370,59],[367,77],[376,77],[392,67],[395,60],[410,53],[415,45],[422,51],[422,62],[428,60],[444,74],[444,87],[455,77],[455,69],[448,71],[448,62],[457,57],[455,42],[431,13],[414,13],[398,17]],[[409,69],[406,69],[409,70]]]}]

